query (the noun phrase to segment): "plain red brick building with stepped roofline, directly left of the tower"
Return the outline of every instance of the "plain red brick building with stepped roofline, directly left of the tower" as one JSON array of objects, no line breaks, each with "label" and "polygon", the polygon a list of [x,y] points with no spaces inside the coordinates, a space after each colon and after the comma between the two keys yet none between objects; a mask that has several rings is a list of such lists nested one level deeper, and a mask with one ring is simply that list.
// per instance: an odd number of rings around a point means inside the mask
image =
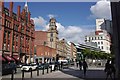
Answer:
[{"label": "plain red brick building with stepped roofline, directly left of the tower", "polygon": [[39,61],[43,63],[56,56],[56,49],[48,46],[47,34],[47,31],[35,31],[36,56],[40,59]]}]

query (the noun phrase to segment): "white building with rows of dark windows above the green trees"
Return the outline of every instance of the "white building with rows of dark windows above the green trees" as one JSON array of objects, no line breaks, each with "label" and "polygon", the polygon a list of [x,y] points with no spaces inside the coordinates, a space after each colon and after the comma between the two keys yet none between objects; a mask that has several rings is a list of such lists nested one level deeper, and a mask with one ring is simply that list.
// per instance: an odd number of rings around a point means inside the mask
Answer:
[{"label": "white building with rows of dark windows above the green trees", "polygon": [[97,48],[100,48],[101,51],[110,53],[111,38],[105,30],[92,32],[85,36],[85,42],[97,44]]}]

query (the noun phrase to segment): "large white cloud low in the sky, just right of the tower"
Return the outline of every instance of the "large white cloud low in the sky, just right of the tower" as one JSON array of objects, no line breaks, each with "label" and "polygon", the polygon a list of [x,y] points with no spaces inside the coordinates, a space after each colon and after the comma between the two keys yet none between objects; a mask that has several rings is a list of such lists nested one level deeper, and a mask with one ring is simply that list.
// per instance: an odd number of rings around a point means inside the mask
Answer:
[{"label": "large white cloud low in the sky, just right of the tower", "polygon": [[81,26],[67,26],[64,30],[59,30],[59,37],[64,37],[67,41],[75,43],[84,43],[85,36],[88,35],[93,29],[82,28]]}]

